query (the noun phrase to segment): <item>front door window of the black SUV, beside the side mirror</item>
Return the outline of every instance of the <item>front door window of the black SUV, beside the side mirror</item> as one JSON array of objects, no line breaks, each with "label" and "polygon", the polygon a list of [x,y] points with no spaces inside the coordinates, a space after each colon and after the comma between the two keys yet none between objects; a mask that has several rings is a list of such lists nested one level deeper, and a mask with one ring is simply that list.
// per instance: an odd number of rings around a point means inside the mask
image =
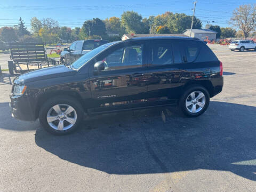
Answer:
[{"label": "front door window of the black SUV, beside the side mirror", "polygon": [[105,70],[118,70],[142,67],[143,45],[127,46],[109,54],[105,62]]}]

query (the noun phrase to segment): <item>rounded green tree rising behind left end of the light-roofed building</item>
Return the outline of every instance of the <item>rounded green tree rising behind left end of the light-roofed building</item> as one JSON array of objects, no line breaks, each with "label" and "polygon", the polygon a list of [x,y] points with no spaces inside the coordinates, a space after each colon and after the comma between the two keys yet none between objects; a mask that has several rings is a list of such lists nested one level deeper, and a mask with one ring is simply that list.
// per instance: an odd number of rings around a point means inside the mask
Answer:
[{"label": "rounded green tree rising behind left end of the light-roofed building", "polygon": [[121,27],[125,28],[126,33],[142,33],[144,28],[141,15],[134,11],[124,12],[121,16]]}]

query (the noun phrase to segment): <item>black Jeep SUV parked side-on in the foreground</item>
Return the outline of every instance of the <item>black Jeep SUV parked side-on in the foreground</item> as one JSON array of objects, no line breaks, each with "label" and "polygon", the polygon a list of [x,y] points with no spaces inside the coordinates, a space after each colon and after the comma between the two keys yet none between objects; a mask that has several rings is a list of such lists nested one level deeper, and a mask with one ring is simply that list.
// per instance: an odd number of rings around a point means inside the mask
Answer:
[{"label": "black Jeep SUV parked side-on in the foreground", "polygon": [[222,63],[189,37],[147,37],[107,43],[69,66],[14,79],[10,107],[54,134],[74,131],[84,112],[102,114],[178,104],[189,117],[204,113],[222,90]]}]

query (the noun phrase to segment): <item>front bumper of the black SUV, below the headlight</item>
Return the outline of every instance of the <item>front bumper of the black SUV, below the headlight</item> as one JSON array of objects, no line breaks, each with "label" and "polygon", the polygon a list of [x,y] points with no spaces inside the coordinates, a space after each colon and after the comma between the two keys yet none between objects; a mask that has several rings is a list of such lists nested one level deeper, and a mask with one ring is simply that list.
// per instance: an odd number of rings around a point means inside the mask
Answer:
[{"label": "front bumper of the black SUV, below the headlight", "polygon": [[23,121],[35,121],[35,107],[30,104],[29,99],[22,96],[10,95],[9,107],[12,117]]}]

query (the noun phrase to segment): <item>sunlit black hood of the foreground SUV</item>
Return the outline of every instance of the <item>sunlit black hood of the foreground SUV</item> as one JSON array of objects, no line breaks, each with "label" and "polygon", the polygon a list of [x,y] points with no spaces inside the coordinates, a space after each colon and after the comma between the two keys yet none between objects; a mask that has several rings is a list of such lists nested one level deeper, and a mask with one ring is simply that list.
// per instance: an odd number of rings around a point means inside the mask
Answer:
[{"label": "sunlit black hood of the foreground SUV", "polygon": [[19,75],[14,79],[14,83],[20,84],[21,82],[23,82],[26,84],[28,82],[40,81],[43,79],[75,75],[76,72],[76,70],[69,69],[65,65],[46,67]]}]

